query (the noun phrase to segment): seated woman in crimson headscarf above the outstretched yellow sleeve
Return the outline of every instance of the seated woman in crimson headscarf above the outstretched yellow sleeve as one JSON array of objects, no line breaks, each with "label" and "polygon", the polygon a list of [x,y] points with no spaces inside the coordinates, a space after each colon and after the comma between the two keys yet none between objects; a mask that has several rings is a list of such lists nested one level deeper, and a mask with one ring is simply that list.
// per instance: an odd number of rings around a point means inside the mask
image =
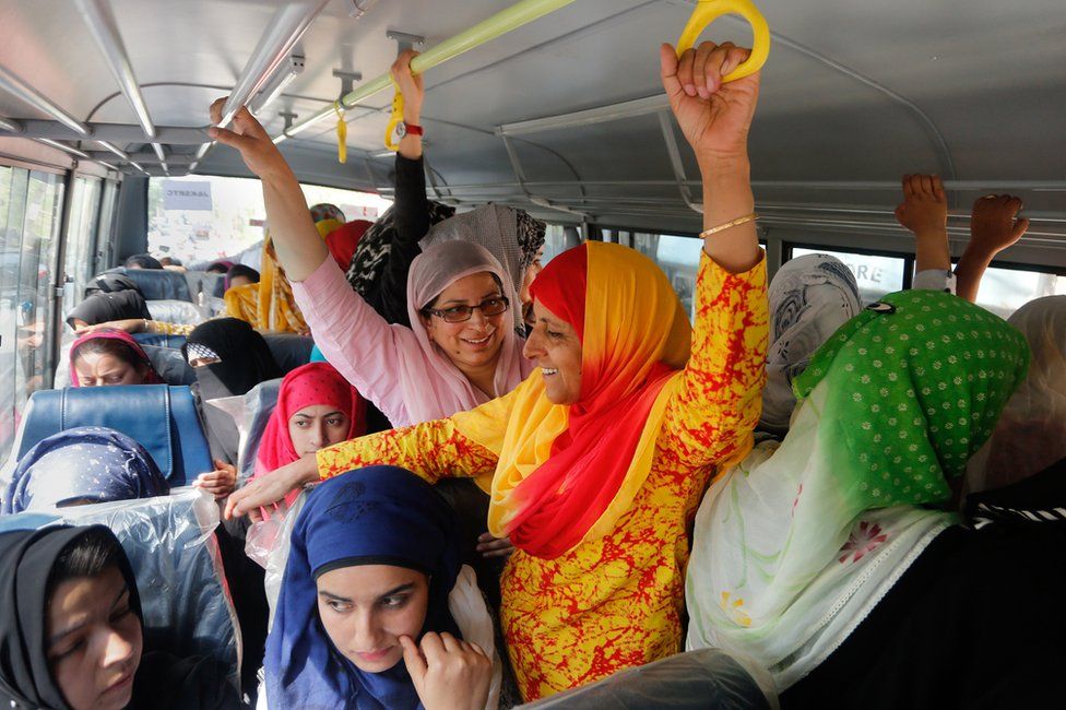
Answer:
[{"label": "seated woman in crimson headscarf above the outstretched yellow sleeve", "polygon": [[[282,380],[253,478],[319,449],[366,434],[366,401],[329,363],[298,367]],[[292,504],[298,492],[286,497]]]}]

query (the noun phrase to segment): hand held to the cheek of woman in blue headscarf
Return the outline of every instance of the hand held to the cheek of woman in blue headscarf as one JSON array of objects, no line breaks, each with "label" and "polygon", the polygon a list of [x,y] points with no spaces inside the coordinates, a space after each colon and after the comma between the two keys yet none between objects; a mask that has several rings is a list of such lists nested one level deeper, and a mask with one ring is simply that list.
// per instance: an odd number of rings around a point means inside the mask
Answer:
[{"label": "hand held to the cheek of woman in blue headscarf", "polygon": [[483,710],[493,681],[493,661],[476,643],[451,634],[428,632],[415,644],[401,636],[403,662],[426,710]]}]

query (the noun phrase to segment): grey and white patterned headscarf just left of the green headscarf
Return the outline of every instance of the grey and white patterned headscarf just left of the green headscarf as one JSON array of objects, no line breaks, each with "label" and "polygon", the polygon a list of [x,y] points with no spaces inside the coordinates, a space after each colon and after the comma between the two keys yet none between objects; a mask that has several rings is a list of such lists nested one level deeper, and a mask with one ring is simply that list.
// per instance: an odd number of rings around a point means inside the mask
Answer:
[{"label": "grey and white patterned headscarf just left of the green headscarf", "polygon": [[789,428],[796,406],[792,381],[812,355],[862,308],[858,284],[836,257],[813,253],[786,262],[770,282],[770,352],[759,425]]}]

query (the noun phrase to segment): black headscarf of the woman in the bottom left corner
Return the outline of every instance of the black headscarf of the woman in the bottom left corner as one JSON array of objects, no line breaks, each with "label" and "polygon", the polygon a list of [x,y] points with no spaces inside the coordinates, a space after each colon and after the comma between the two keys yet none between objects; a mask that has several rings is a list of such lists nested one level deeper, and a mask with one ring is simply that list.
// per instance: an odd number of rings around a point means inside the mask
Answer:
[{"label": "black headscarf of the woman in the bottom left corner", "polygon": [[[68,545],[97,531],[115,536],[103,525],[0,533],[0,707],[68,710],[48,668],[48,576]],[[141,618],[137,579],[126,554],[119,554],[116,563],[130,590],[130,606]]]}]

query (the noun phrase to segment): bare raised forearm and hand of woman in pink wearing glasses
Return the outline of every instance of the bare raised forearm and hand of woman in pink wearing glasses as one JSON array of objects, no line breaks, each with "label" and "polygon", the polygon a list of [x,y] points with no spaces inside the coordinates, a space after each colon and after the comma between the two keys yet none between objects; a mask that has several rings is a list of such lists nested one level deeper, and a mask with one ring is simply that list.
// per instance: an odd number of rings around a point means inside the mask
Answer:
[{"label": "bare raised forearm and hand of woman in pink wearing glasses", "polygon": [[[211,105],[211,120],[218,122],[226,99]],[[315,228],[299,180],[270,135],[247,108],[234,116],[233,130],[212,128],[214,140],[240,152],[248,169],[263,184],[266,221],[274,240],[277,261],[289,281],[304,281],[330,256]]]}]

